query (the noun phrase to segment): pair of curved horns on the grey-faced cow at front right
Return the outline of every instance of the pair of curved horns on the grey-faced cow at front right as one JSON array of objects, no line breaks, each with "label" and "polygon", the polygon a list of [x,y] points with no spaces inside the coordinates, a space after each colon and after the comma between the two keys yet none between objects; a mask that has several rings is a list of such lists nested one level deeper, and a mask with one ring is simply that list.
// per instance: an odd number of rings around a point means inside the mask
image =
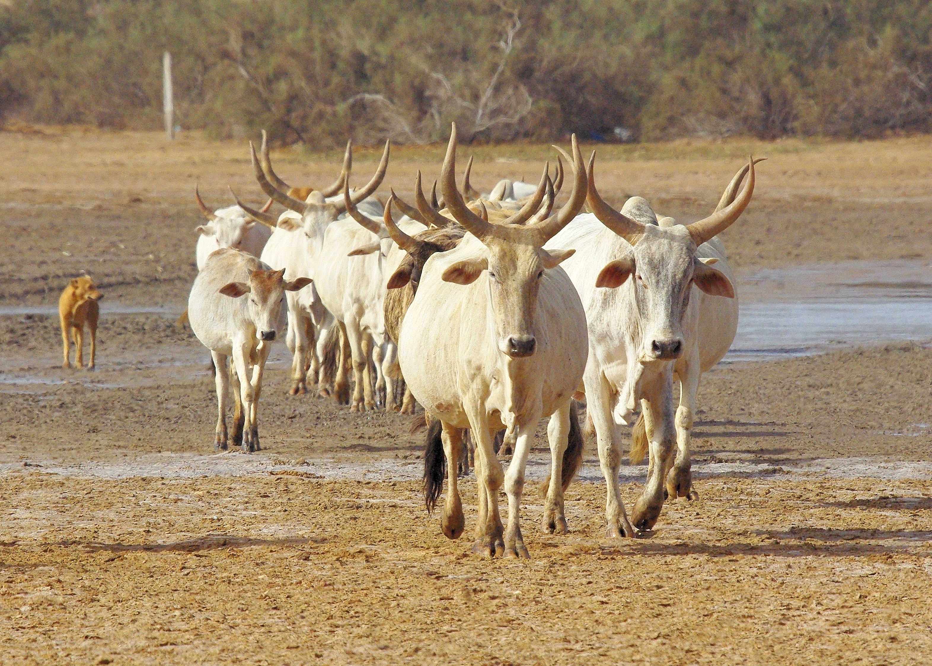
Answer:
[{"label": "pair of curved horns on the grey-faced cow at front right", "polygon": [[[747,204],[751,201],[751,195],[754,193],[754,165],[761,160],[754,160],[752,157],[747,158],[747,164],[734,174],[732,182],[721,195],[719,205],[715,212],[705,219],[686,225],[689,230],[692,241],[696,245],[706,243],[706,241],[719,235],[725,229],[732,226],[733,222],[745,212]],[[606,203],[598,190],[596,190],[595,179],[595,162],[596,151],[593,151],[589,159],[589,192],[586,197],[586,203],[589,209],[606,227],[624,238],[625,241],[636,244],[644,235],[644,225],[627,215],[619,213]],[[735,191],[741,186],[745,175],[749,173],[747,183],[741,193],[735,197]]]}]

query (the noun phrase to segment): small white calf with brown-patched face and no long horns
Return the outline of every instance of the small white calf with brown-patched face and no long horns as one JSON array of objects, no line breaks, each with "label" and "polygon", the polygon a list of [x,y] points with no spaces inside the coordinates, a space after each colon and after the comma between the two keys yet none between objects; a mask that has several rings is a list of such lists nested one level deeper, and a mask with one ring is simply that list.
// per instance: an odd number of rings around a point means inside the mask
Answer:
[{"label": "small white calf with brown-patched face and no long horns", "polygon": [[234,417],[233,440],[242,437],[243,451],[259,450],[256,410],[269,345],[277,336],[281,302],[286,291],[310,284],[306,277],[286,282],[283,273],[272,271],[252,255],[221,248],[208,258],[191,287],[187,300],[191,329],[211,350],[217,368],[217,449],[226,449],[227,443],[226,398],[231,376],[226,358],[232,355],[232,380],[240,408]]}]

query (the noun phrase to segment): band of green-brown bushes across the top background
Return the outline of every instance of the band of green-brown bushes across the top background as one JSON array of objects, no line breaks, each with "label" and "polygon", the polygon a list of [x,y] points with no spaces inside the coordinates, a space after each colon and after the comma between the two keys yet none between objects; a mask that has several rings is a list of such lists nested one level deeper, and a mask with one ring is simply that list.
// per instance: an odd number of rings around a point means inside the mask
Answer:
[{"label": "band of green-brown bushes across the top background", "polygon": [[[505,4],[511,3],[511,4]],[[0,114],[333,146],[927,132],[919,0],[12,0]]]}]

